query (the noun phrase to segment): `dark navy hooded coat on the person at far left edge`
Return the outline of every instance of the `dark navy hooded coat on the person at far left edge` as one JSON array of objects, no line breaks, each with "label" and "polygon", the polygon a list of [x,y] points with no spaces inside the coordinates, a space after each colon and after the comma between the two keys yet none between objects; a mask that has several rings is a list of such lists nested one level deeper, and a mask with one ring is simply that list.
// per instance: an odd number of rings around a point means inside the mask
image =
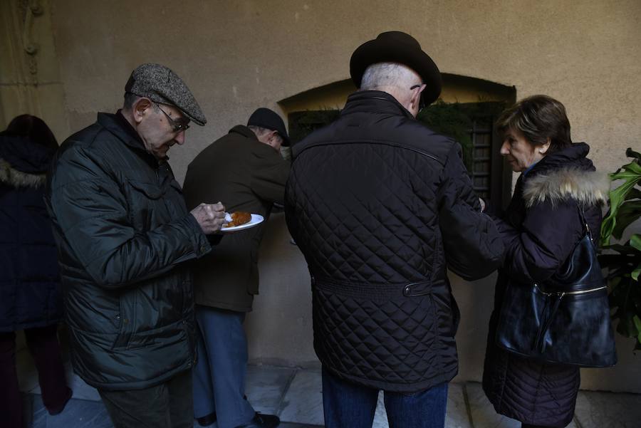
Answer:
[{"label": "dark navy hooded coat on the person at far left edge", "polygon": [[0,135],[0,332],[62,317],[58,259],[43,202],[53,151]]}]

